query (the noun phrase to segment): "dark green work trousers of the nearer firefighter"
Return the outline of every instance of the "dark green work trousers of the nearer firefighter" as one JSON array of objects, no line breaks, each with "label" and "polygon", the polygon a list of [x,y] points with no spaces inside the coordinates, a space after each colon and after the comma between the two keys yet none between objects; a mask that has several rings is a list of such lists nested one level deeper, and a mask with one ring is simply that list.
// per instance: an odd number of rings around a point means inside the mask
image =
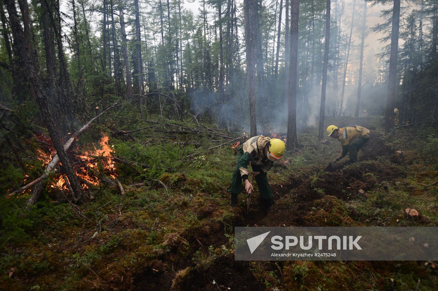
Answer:
[{"label": "dark green work trousers of the nearer firefighter", "polygon": [[[231,184],[226,190],[227,192],[239,194],[242,191],[242,176],[240,174],[239,161],[243,155],[244,151],[242,148],[240,148],[239,152],[237,153],[237,163],[233,170]],[[260,191],[260,196],[264,199],[271,199],[273,194],[271,186],[268,182],[268,175],[263,173],[260,166],[251,164],[251,168],[254,172],[260,172],[260,174],[254,177],[255,181],[257,182],[258,190]],[[248,179],[251,179],[251,175],[248,176]]]}]

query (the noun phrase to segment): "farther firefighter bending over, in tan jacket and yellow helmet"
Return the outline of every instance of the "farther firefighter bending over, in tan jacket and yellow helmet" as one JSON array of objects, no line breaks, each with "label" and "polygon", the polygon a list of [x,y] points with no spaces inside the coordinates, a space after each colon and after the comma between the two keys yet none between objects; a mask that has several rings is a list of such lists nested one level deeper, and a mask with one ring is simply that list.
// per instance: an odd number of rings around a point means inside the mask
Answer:
[{"label": "farther firefighter bending over, in tan jacket and yellow helmet", "polygon": [[370,139],[368,133],[370,133],[369,129],[359,125],[354,125],[353,127],[346,126],[343,128],[330,125],[327,128],[327,134],[333,139],[338,139],[342,145],[342,153],[336,157],[336,161],[339,161],[348,153],[350,156],[349,163],[357,162],[357,152],[359,152],[359,149]]}]

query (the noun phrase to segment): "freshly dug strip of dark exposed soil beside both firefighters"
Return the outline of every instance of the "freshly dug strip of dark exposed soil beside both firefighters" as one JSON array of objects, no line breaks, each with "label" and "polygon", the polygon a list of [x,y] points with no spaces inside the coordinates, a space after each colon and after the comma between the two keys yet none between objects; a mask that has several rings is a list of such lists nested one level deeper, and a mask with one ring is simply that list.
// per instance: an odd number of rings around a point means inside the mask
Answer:
[{"label": "freshly dug strip of dark exposed soil beside both firefighters", "polygon": [[[267,214],[260,207],[259,195],[252,197],[251,208],[247,213],[246,202],[235,209],[236,216],[230,222],[233,226],[314,226],[318,225],[318,215],[324,218],[332,215],[331,221],[339,225],[352,225],[354,222],[340,201],[348,201],[379,187],[385,180],[403,177],[397,166],[376,161],[378,156],[394,153],[378,136],[372,136],[360,151],[361,166],[342,166],[334,172],[315,172],[292,175],[287,184],[273,184],[274,205]],[[246,199],[245,199],[246,200]],[[339,202],[337,202],[339,201]],[[201,206],[201,205],[199,205]],[[316,206],[316,207],[315,207]],[[317,209],[318,208],[318,209]],[[215,215],[220,207],[206,204],[197,213],[200,217]],[[319,212],[311,214],[315,209]],[[338,219],[338,220],[337,220]],[[209,254],[208,246],[214,249],[226,245],[223,235],[224,225],[200,225],[197,229],[182,235],[172,243],[170,252],[162,258],[167,266],[149,268],[142,278],[134,282],[137,290],[265,290],[250,270],[249,262],[234,261],[233,254],[220,254],[209,263],[197,265],[191,255],[201,251]],[[182,245],[189,249],[181,251]],[[171,267],[169,266],[171,264]],[[215,284],[213,284],[213,280]],[[228,289],[230,288],[230,289]]]}]

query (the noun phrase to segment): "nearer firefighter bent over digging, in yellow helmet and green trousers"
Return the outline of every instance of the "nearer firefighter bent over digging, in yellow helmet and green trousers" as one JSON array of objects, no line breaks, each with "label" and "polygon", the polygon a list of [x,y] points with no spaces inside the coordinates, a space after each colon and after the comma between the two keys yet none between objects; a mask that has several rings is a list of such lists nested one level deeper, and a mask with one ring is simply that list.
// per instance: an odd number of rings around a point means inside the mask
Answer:
[{"label": "nearer firefighter bent over digging, in yellow helmet and green trousers", "polygon": [[[264,135],[254,136],[248,139],[237,153],[237,163],[233,170],[233,178],[227,192],[231,192],[231,206],[237,204],[237,194],[242,190],[242,180],[245,183],[245,191],[254,191],[248,180],[248,175],[254,174],[258,189],[260,190],[261,202],[268,211],[272,205],[272,189],[268,183],[266,172],[283,156],[285,144],[281,139],[271,139]],[[248,172],[251,163],[252,172]]]}]

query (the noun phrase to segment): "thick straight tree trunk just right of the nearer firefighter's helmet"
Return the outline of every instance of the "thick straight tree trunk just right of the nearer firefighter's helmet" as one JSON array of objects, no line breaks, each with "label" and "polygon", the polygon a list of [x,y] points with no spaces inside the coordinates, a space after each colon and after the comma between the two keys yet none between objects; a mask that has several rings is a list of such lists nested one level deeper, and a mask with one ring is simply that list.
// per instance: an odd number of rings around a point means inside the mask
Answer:
[{"label": "thick straight tree trunk just right of the nearer firefighter's helmet", "polygon": [[290,67],[289,67],[289,109],[287,115],[288,151],[297,145],[297,59],[298,59],[298,12],[300,0],[291,1],[290,12]]}]

